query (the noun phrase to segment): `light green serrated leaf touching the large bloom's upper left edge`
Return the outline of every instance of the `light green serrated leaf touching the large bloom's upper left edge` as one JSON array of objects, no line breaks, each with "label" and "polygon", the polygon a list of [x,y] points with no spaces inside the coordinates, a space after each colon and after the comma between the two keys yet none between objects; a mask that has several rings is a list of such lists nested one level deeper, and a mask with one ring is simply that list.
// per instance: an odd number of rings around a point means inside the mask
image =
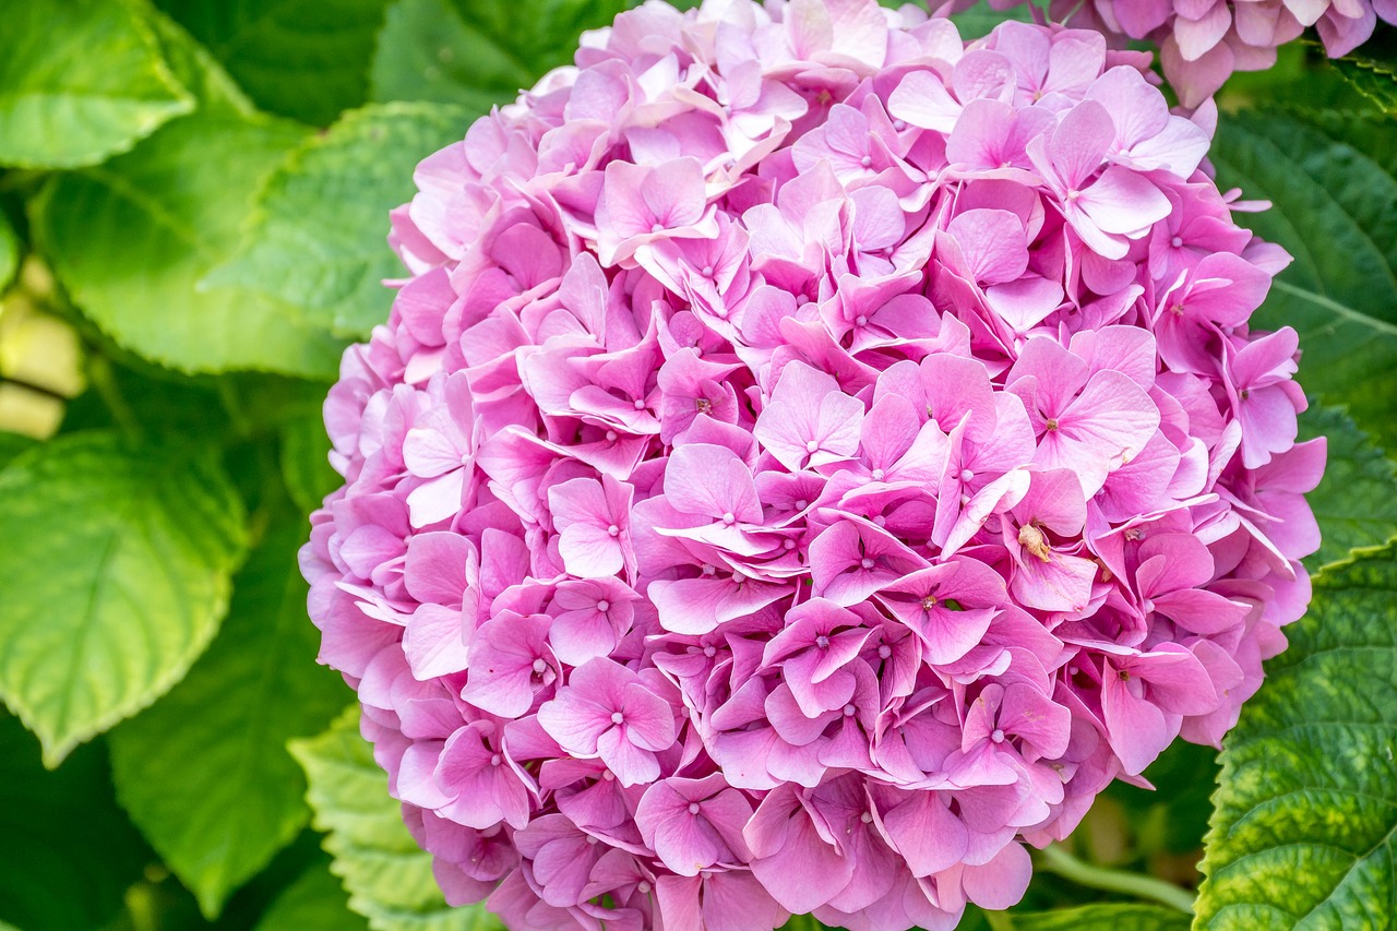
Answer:
[{"label": "light green serrated leaf touching the large bloom's upper left edge", "polygon": [[271,175],[244,247],[203,285],[258,291],[312,326],[367,337],[393,303],[383,280],[404,274],[386,245],[388,211],[416,190],[416,164],[468,126],[465,110],[433,103],[348,113]]}]

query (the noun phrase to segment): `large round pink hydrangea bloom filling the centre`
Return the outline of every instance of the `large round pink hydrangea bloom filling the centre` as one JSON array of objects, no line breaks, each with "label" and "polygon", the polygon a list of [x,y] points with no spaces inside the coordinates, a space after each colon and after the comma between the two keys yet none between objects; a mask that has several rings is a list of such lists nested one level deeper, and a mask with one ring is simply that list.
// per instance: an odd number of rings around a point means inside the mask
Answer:
[{"label": "large round pink hydrangea bloom filling the centre", "polygon": [[303,565],[450,902],[949,928],[1235,721],[1324,453],[1146,63],[650,3],[422,162]]}]

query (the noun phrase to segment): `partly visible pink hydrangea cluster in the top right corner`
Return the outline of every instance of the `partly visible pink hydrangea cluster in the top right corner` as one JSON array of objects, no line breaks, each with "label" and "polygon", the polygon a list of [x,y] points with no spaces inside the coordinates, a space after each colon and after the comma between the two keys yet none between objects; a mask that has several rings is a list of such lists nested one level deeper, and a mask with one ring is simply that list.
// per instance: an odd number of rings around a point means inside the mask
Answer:
[{"label": "partly visible pink hydrangea cluster in the top right corner", "polygon": [[[953,0],[965,10],[975,0]],[[1032,0],[990,0],[1007,10]],[[1368,41],[1377,20],[1397,24],[1397,0],[1052,0],[1055,20],[1160,46],[1160,64],[1185,106],[1213,96],[1234,71],[1264,71],[1277,48],[1315,27],[1330,57]]]}]

